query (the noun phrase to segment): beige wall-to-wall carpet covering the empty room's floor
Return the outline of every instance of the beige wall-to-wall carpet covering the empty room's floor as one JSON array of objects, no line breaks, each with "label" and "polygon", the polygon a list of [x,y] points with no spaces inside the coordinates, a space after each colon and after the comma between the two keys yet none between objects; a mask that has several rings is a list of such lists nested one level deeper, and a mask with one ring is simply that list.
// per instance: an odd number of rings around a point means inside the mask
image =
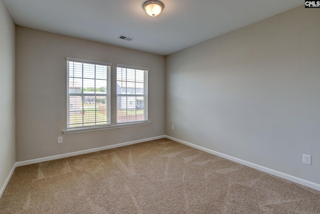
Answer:
[{"label": "beige wall-to-wall carpet covering the empty room's floor", "polygon": [[17,167],[0,213],[320,213],[320,192],[160,139]]}]

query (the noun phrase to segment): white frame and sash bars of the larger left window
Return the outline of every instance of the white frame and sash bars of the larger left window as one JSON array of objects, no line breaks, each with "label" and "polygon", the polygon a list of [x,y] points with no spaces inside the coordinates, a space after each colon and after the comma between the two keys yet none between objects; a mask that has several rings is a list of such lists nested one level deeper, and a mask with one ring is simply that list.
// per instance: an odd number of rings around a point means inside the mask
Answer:
[{"label": "white frame and sash bars of the larger left window", "polygon": [[[66,131],[63,132],[67,132],[67,131],[74,131],[74,130],[86,130],[86,129],[92,129],[92,128],[101,128],[101,127],[108,127],[111,125],[111,115],[110,115],[110,85],[111,85],[111,81],[110,81],[110,70],[111,70],[111,63],[108,62],[101,62],[101,61],[94,61],[94,60],[85,60],[85,59],[78,59],[78,58],[72,58],[72,57],[66,57],[65,58],[66,61]],[[103,94],[91,94],[91,93],[69,93],[69,62],[77,62],[77,63],[82,63],[82,64],[93,64],[93,65],[103,65],[106,66],[106,90],[105,93]],[[82,79],[86,79],[83,78],[83,71],[82,71],[82,77],[79,78]],[[98,78],[96,78],[94,76],[94,81],[98,80]],[[83,88],[83,85],[82,85]],[[95,88],[95,86],[94,86]],[[96,88],[95,88],[96,89]],[[81,96],[82,97],[82,103],[83,103],[83,98],[86,96],[94,96],[94,97],[98,97],[98,96],[105,96],[106,97],[106,123],[105,124],[97,124],[97,125],[83,125],[82,126],[75,126],[75,127],[69,127],[70,121],[70,96]],[[95,102],[96,104],[96,102]],[[83,108],[83,107],[82,107]],[[83,122],[83,121],[82,121]],[[96,123],[96,118],[94,119],[94,123]]]}]

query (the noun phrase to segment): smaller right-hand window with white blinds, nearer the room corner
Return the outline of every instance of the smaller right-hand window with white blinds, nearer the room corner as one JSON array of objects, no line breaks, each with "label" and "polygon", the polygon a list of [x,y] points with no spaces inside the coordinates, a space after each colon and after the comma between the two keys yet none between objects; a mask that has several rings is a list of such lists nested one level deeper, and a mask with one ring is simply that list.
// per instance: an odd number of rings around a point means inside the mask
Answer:
[{"label": "smaller right-hand window with white blinds, nearer the room corner", "polygon": [[148,70],[116,65],[117,123],[147,121]]}]

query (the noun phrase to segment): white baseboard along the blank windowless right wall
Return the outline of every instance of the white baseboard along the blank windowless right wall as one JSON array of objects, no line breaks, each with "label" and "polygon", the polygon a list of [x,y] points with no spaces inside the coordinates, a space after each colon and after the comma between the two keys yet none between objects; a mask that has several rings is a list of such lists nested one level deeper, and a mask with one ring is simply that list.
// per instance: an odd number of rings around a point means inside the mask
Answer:
[{"label": "white baseboard along the blank windowless right wall", "polygon": [[295,176],[292,176],[292,175],[289,175],[289,174],[286,174],[286,173],[283,173],[283,172],[280,172],[280,171],[276,171],[274,169],[270,169],[270,168],[267,168],[267,167],[264,167],[264,166],[260,166],[258,164],[251,163],[249,161],[242,160],[242,159],[239,159],[239,158],[236,158],[236,157],[232,157],[230,155],[223,154],[221,152],[217,152],[217,151],[214,151],[214,150],[211,150],[211,149],[208,149],[208,148],[204,148],[202,146],[198,146],[198,145],[195,145],[193,143],[186,142],[184,140],[180,140],[180,139],[177,139],[177,138],[174,138],[174,137],[170,137],[170,136],[167,136],[167,135],[165,137],[170,139],[170,140],[174,140],[176,142],[182,143],[184,145],[199,149],[201,151],[205,151],[205,152],[208,152],[210,154],[214,154],[216,156],[223,157],[225,159],[240,163],[242,165],[245,165],[245,166],[248,166],[248,167],[251,167],[251,168],[254,168],[254,169],[257,169],[257,170],[260,170],[260,171],[263,171],[263,172],[266,172],[266,173],[269,173],[269,174],[272,174],[272,175],[284,178],[286,180],[290,180],[292,182],[295,182],[295,183],[298,183],[298,184],[301,184],[301,185],[304,185],[304,186],[307,186],[307,187],[310,187],[312,189],[316,189],[316,190],[320,191],[320,184],[318,184],[318,183],[314,183],[314,182],[311,182],[311,181],[308,181],[308,180],[305,180],[305,179],[302,179],[302,178],[299,178],[299,177],[295,177]]}]

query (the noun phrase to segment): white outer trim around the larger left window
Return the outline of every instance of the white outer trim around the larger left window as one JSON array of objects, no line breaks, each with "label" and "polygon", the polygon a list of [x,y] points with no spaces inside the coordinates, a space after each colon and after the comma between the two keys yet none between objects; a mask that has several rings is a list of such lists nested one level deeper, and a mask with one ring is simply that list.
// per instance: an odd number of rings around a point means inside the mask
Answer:
[{"label": "white outer trim around the larger left window", "polygon": [[[108,77],[108,81],[109,81],[109,88],[107,88],[107,90],[109,90],[109,94],[108,94],[108,99],[109,99],[109,103],[108,103],[108,106],[107,108],[109,109],[109,119],[111,120],[111,112],[110,112],[110,87],[111,87],[111,81],[110,81],[110,73],[111,73],[111,66],[112,66],[112,63],[108,63],[108,62],[101,62],[101,61],[95,61],[95,60],[86,60],[86,59],[79,59],[79,58],[73,58],[73,57],[66,57],[65,58],[65,61],[68,62],[68,61],[71,61],[71,62],[78,62],[78,63],[88,63],[88,64],[97,64],[97,65],[105,65],[105,66],[109,66],[110,69],[109,69],[109,72],[107,73],[107,77]],[[67,69],[67,73],[66,73],[66,102],[69,103],[69,73],[68,73],[68,63],[66,63],[66,69]],[[82,94],[83,95],[83,94]],[[84,94],[85,95],[85,94]],[[91,94],[88,94],[88,95],[91,95]],[[68,108],[69,106],[67,106],[67,111],[68,111]],[[67,115],[67,118],[68,118],[68,115]],[[67,122],[68,122],[68,119],[67,119]],[[110,121],[111,122],[111,121]],[[99,129],[99,128],[102,128],[102,127],[109,127],[110,124],[105,124],[105,125],[101,125],[101,126],[96,126],[96,125],[93,125],[93,126],[84,126],[84,127],[72,127],[72,128],[67,128],[67,130],[64,130],[62,131],[63,133],[67,133],[67,132],[74,132],[76,133],[76,131],[78,132],[84,132],[85,130],[92,130],[92,129]]]}]

